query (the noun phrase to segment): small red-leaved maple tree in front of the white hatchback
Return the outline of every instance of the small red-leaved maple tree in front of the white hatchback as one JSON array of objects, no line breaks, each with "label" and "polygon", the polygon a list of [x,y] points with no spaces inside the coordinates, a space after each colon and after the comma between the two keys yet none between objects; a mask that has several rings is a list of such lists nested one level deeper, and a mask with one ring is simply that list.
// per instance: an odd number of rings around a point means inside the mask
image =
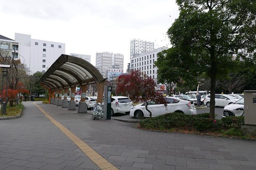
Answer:
[{"label": "small red-leaved maple tree in front of the white hatchback", "polygon": [[155,99],[157,103],[166,104],[166,100],[162,94],[155,92],[155,87],[156,82],[151,77],[136,70],[118,77],[116,94],[129,96],[134,102],[145,102],[145,108],[150,113],[151,117],[152,113],[148,109],[149,100]]}]

